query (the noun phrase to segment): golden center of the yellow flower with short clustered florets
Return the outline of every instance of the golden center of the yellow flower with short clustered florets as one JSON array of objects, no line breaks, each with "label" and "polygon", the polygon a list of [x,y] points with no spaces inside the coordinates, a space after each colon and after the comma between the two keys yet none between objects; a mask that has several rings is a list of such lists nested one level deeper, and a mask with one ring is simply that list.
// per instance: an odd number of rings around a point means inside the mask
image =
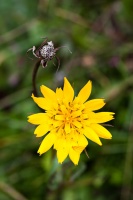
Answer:
[{"label": "golden center of the yellow flower with short clustered florets", "polygon": [[[84,106],[79,103],[58,104],[55,112],[50,114],[53,127],[64,129],[64,134],[72,133],[73,130],[78,131],[84,126]],[[54,120],[54,121],[53,121]]]}]

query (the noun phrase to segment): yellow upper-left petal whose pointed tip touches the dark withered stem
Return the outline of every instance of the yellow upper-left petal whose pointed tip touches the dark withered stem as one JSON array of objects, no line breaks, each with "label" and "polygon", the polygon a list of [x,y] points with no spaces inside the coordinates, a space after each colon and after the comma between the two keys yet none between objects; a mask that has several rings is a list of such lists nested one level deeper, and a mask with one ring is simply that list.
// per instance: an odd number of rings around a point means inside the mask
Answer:
[{"label": "yellow upper-left petal whose pointed tip touches the dark withered stem", "polygon": [[45,110],[45,109],[48,110],[48,109],[50,109],[51,106],[52,106],[52,104],[51,104],[49,101],[47,101],[45,98],[43,98],[43,97],[35,97],[33,94],[32,94],[31,97],[33,98],[34,102],[35,102],[40,108],[42,108],[42,109],[44,109],[44,110]]}]

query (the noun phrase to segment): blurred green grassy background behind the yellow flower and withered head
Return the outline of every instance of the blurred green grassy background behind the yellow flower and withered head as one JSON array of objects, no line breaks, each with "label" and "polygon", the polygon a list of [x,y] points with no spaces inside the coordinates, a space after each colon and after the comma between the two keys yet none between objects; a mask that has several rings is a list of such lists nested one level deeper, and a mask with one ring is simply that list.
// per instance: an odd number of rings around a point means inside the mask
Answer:
[{"label": "blurred green grassy background behind the yellow flower and withered head", "polygon": [[[67,45],[39,68],[37,87],[55,89],[66,76],[75,95],[88,80],[91,98],[105,98],[115,112],[112,140],[89,142],[78,166],[57,163],[55,151],[37,154],[42,138],[27,116],[36,59],[26,51],[48,37]],[[31,53],[32,56],[32,53]],[[0,0],[0,200],[133,199],[133,1]]]}]

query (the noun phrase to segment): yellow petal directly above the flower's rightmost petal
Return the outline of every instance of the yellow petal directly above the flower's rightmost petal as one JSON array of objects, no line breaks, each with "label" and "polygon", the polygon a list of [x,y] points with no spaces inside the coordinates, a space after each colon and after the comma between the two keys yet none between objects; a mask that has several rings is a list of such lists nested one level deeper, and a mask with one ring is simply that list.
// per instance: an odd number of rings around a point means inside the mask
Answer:
[{"label": "yellow petal directly above the flower's rightmost petal", "polygon": [[105,102],[103,99],[93,99],[87,101],[84,105],[85,108],[89,109],[90,111],[94,111],[102,108],[105,105]]}]

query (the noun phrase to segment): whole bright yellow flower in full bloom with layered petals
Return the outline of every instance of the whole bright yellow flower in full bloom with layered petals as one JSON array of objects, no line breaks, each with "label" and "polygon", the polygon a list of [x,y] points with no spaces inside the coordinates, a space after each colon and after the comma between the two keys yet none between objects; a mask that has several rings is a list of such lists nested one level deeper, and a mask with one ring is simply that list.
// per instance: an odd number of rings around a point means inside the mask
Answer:
[{"label": "whole bright yellow flower in full bloom with layered petals", "polygon": [[39,154],[53,146],[59,163],[69,156],[77,165],[81,152],[88,145],[87,139],[102,145],[99,138],[112,138],[111,133],[100,124],[112,120],[114,113],[94,112],[105,105],[103,99],[87,101],[92,89],[91,81],[88,81],[75,98],[74,90],[66,78],[63,90],[57,88],[54,92],[44,85],[40,89],[43,97],[32,94],[32,98],[45,113],[28,117],[30,123],[38,125],[34,134],[37,137],[45,135],[38,150]]}]

